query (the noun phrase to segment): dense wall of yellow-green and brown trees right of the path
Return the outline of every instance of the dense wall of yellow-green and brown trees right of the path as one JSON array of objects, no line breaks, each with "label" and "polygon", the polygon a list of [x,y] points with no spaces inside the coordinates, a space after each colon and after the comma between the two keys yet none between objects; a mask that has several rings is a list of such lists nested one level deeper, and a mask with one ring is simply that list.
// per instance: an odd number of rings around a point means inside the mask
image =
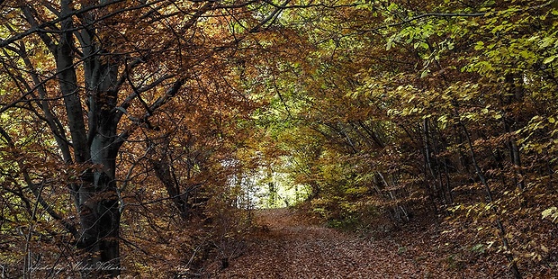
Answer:
[{"label": "dense wall of yellow-green and brown trees right of the path", "polygon": [[554,253],[556,14],[555,1],[292,11],[282,23],[312,47],[277,59],[263,118],[333,223],[450,216],[520,278]]}]

